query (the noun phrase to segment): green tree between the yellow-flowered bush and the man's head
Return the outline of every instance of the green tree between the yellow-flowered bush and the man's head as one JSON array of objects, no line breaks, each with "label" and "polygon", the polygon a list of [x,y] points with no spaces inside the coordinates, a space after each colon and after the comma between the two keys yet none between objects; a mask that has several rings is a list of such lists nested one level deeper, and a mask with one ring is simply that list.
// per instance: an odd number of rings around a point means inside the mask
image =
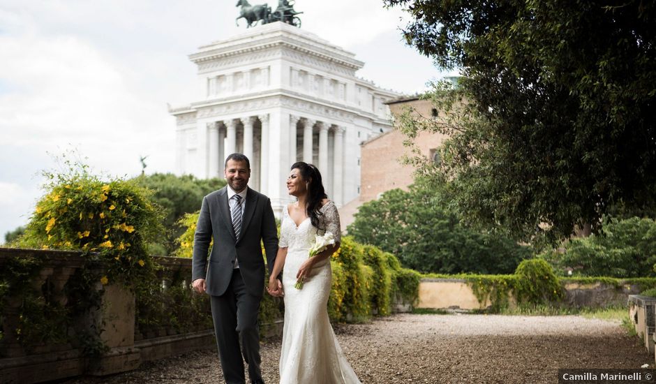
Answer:
[{"label": "green tree between the yellow-flowered bush and the man's head", "polygon": [[197,179],[192,175],[176,176],[171,173],[135,177],[135,181],[154,191],[151,199],[163,207],[165,236],[151,244],[151,252],[170,256],[177,249],[176,239],[185,228],[177,223],[184,214],[200,209],[204,195],[225,186],[224,179]]}]

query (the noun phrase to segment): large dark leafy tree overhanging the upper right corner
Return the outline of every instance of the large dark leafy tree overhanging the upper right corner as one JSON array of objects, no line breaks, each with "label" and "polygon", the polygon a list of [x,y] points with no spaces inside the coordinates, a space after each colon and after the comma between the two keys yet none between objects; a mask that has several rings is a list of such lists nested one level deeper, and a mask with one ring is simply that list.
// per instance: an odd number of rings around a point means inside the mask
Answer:
[{"label": "large dark leafy tree overhanging the upper right corner", "polygon": [[654,2],[385,3],[410,13],[409,44],[461,68],[459,87],[430,95],[443,118],[403,129],[452,135],[424,172],[454,179],[468,219],[556,242],[617,206],[655,214]]}]

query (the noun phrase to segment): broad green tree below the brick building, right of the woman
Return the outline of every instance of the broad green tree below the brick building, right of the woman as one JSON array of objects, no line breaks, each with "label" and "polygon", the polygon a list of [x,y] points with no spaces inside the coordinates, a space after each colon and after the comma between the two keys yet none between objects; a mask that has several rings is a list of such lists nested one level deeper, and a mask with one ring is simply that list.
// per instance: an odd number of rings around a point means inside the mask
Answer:
[{"label": "broad green tree below the brick building, right of the woman", "polygon": [[507,237],[463,226],[460,215],[449,208],[447,193],[426,184],[387,191],[366,202],[348,233],[421,272],[512,273],[530,256],[527,247]]}]

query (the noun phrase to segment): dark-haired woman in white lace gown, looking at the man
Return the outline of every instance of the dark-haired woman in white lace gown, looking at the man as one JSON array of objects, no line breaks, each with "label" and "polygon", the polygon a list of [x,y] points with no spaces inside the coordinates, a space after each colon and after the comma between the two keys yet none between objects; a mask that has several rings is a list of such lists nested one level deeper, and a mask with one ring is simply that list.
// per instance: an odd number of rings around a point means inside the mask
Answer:
[{"label": "dark-haired woman in white lace gown, looking at the man", "polygon": [[[360,383],[328,319],[330,256],[339,248],[340,240],[337,207],[328,200],[314,165],[292,165],[287,189],[298,201],[283,208],[280,248],[267,287],[271,295],[284,296],[285,300],[280,382]],[[315,235],[325,232],[334,235],[335,245],[309,258]],[[276,279],[281,270],[282,284]],[[302,281],[301,288],[295,288],[297,281]]]}]

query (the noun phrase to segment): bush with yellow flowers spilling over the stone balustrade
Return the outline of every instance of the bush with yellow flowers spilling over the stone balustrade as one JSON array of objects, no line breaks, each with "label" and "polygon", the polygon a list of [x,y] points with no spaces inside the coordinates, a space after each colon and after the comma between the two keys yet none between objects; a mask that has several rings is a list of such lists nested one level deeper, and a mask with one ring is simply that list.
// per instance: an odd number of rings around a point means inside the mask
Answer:
[{"label": "bush with yellow flowers spilling over the stone balustrade", "polygon": [[110,261],[103,284],[148,274],[154,265],[147,244],[162,231],[150,191],[131,180],[91,175],[86,165],[66,164],[68,172],[44,172],[45,195],[15,245],[100,253]]}]

